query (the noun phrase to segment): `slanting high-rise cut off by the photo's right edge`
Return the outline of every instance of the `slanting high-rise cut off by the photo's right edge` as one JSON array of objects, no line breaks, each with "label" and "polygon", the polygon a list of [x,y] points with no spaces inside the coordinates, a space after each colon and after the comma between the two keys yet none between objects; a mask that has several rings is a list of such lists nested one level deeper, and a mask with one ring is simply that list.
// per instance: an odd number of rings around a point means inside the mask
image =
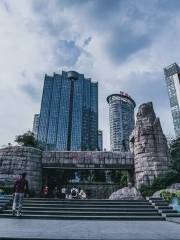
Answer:
[{"label": "slanting high-rise cut off by the photo's right edge", "polygon": [[180,67],[173,63],[164,68],[176,137],[180,136]]}]

